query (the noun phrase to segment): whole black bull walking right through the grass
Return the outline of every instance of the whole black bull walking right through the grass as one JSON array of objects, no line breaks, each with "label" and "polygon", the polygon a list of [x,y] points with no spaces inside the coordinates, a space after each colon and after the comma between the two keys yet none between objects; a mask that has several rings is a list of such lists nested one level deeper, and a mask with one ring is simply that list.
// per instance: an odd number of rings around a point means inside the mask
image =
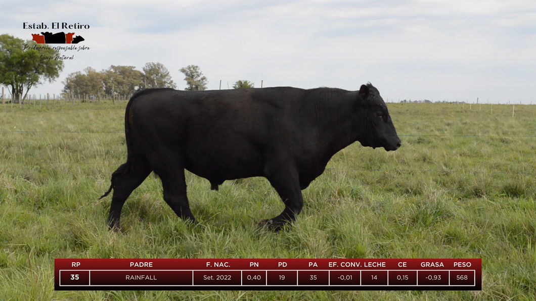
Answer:
[{"label": "whole black bull walking right through the grass", "polygon": [[227,91],[145,89],[125,112],[126,163],[111,175],[108,226],[119,228],[126,198],[154,171],[177,216],[196,222],[184,169],[213,190],[225,180],[265,177],[285,203],[262,224],[279,230],[303,207],[301,190],[355,141],[394,151],[400,139],[378,90],[275,87]]}]

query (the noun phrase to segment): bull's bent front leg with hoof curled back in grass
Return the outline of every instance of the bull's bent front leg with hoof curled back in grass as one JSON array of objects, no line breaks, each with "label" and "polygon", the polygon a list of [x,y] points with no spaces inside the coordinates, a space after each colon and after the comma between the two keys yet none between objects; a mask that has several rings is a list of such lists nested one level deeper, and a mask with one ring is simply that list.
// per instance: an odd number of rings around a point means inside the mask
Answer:
[{"label": "bull's bent front leg with hoof curled back in grass", "polygon": [[296,216],[303,208],[303,197],[300,189],[300,179],[295,168],[289,168],[289,164],[280,164],[277,169],[271,170],[267,179],[276,189],[285,203],[285,209],[281,214],[270,220],[264,220],[260,224],[266,225],[274,231],[281,230],[285,224],[296,220]]}]

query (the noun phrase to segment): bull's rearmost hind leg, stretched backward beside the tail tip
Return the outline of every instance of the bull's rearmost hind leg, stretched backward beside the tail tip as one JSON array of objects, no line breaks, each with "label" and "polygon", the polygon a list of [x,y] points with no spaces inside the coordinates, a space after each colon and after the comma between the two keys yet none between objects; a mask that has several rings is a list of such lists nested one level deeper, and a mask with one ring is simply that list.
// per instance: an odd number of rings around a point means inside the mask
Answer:
[{"label": "bull's rearmost hind leg, stretched backward beside the tail tip", "polygon": [[115,231],[120,229],[119,218],[126,199],[151,173],[151,168],[145,160],[139,159],[134,162],[136,163],[126,162],[121,165],[111,176],[114,194],[111,198],[108,227]]}]

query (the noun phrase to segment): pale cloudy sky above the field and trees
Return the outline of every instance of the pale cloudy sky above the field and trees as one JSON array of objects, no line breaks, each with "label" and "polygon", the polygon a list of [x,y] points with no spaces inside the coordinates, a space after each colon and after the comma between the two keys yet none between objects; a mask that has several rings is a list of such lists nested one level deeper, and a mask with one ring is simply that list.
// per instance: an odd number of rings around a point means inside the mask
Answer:
[{"label": "pale cloudy sky above the field and trees", "polygon": [[536,2],[508,1],[109,1],[19,0],[2,5],[0,34],[32,38],[23,22],[74,29],[90,49],[66,52],[61,76],[34,93],[59,93],[91,66],[198,65],[209,89],[236,80],[260,87],[357,90],[384,99],[536,104]]}]

